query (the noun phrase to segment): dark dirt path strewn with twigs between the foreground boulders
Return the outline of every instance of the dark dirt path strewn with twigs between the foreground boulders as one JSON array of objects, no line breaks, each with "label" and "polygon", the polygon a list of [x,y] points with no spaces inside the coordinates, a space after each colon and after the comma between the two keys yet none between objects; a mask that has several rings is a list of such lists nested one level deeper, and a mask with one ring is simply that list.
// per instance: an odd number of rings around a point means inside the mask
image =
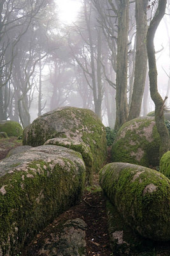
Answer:
[{"label": "dark dirt path strewn with twigs between the foreground boulders", "polygon": [[[52,226],[59,221],[73,218],[81,218],[87,224],[87,256],[110,256],[105,199],[99,186],[91,187],[90,191],[86,190],[80,204],[61,214],[53,221]],[[41,236],[43,237],[45,233],[46,228],[29,244],[25,252],[22,252],[22,256],[36,256],[41,244]]]}]

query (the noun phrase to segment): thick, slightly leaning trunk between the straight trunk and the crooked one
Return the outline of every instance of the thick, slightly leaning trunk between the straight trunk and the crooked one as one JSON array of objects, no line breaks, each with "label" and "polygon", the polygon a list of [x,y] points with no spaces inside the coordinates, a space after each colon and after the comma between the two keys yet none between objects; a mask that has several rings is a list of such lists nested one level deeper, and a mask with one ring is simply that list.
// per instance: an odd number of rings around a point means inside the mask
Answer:
[{"label": "thick, slightly leaning trunk between the straight trunk and the crooked one", "polygon": [[136,0],[136,58],[134,86],[128,120],[140,115],[147,69],[146,34],[148,30],[146,7],[148,0]]}]

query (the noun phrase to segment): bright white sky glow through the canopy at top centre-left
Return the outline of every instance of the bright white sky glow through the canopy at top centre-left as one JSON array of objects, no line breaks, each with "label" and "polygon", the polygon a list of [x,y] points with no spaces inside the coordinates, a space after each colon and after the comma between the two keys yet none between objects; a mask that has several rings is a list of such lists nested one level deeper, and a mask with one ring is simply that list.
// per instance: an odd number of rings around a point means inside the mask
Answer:
[{"label": "bright white sky glow through the canopy at top centre-left", "polygon": [[76,21],[81,3],[78,0],[55,0],[58,6],[59,20],[64,24],[71,24]]}]

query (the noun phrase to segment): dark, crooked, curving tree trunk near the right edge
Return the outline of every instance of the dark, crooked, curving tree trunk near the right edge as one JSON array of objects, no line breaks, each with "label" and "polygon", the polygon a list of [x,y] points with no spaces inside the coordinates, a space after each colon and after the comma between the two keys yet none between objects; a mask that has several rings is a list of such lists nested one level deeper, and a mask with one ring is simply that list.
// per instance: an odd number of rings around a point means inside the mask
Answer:
[{"label": "dark, crooked, curving tree trunk near the right edge", "polygon": [[169,150],[169,132],[167,131],[164,123],[164,104],[167,97],[163,100],[160,96],[157,88],[157,65],[155,59],[155,48],[154,48],[154,36],[159,26],[160,20],[164,17],[166,10],[167,0],[159,0],[157,11],[150,22],[147,33],[147,51],[148,51],[148,63],[149,63],[149,77],[150,77],[150,95],[155,104],[155,122],[157,125],[157,131],[160,135],[160,157]]}]

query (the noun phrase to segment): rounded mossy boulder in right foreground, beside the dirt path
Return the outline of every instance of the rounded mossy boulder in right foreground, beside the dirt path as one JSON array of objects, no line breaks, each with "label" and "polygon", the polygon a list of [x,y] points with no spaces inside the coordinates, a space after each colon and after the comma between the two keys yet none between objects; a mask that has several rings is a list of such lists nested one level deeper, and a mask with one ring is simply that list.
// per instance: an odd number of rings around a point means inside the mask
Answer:
[{"label": "rounded mossy boulder in right foreground, beside the dirt path", "polygon": [[141,236],[170,240],[170,181],[162,173],[129,163],[110,163],[100,184],[125,223]]}]

